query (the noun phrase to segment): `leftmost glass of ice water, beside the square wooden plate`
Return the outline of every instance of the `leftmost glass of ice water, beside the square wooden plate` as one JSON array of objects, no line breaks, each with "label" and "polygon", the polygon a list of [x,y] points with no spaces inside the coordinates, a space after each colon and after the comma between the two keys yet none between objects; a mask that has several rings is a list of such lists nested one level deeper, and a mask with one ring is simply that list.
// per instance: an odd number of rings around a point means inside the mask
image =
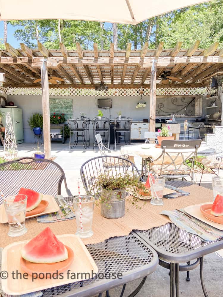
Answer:
[{"label": "leftmost glass of ice water, beside the square wooden plate", "polygon": [[18,194],[3,200],[9,222],[8,236],[17,237],[27,232],[25,226],[27,196]]}]

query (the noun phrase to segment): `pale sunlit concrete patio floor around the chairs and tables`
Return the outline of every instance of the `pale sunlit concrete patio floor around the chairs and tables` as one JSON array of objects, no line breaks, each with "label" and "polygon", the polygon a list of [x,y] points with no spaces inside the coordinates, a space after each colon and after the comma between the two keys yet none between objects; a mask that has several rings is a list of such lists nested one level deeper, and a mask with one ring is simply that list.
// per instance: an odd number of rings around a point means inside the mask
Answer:
[{"label": "pale sunlit concrete patio floor around the chairs and tables", "polygon": [[[34,153],[34,143],[22,143],[18,145],[18,157],[32,156]],[[0,156],[3,156],[3,150],[0,147]],[[65,171],[67,185],[73,195],[77,194],[77,179],[80,177],[81,165],[90,158],[100,156],[98,149],[92,149],[92,145],[83,152],[82,147],[76,147],[69,152],[68,144],[61,143],[51,144],[51,155],[55,156],[54,160]],[[135,163],[139,170],[141,169],[141,158],[135,157]],[[222,172],[220,173],[222,175]],[[202,186],[212,189],[211,177],[212,174],[204,174],[202,178]],[[200,173],[196,173],[195,182],[200,181]],[[84,189],[82,189],[84,193]],[[62,189],[62,194],[66,196],[65,189]],[[209,296],[221,297],[222,292],[222,261],[223,251],[219,254],[212,253],[207,255],[204,260],[204,279]],[[200,285],[200,270],[199,267],[190,272],[191,281],[186,282],[186,273],[180,272],[180,289],[179,296],[187,297],[202,297],[203,292]],[[128,296],[139,284],[140,280],[133,281],[126,286],[124,296]],[[114,288],[109,291],[110,297],[119,296],[121,287]],[[106,296],[103,293],[103,296]],[[158,266],[158,269],[147,277],[147,280],[142,287],[142,290],[137,296],[141,297],[168,297],[169,296],[169,274],[168,270]]]}]

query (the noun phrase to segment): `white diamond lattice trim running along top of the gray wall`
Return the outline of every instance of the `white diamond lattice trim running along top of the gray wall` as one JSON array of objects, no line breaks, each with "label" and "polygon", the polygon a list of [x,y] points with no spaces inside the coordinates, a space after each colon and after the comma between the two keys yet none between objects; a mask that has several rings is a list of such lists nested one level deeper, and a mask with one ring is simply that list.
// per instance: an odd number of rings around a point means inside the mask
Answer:
[{"label": "white diamond lattice trim running along top of the gray wall", "polygon": [[[157,95],[207,95],[209,87],[205,88],[158,88]],[[109,89],[106,92],[95,91],[95,89],[49,89],[50,96],[139,96],[141,89]],[[0,86],[0,93],[5,95],[42,95],[41,88],[4,88]],[[150,88],[144,89],[143,96],[150,95]]]}]

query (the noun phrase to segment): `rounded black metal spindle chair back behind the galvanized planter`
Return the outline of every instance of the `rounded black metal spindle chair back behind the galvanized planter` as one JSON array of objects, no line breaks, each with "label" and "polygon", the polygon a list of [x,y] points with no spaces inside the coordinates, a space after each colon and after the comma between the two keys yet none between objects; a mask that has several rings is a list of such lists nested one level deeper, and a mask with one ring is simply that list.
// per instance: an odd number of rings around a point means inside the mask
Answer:
[{"label": "rounded black metal spindle chair back behind the galvanized planter", "polygon": [[[105,166],[107,163],[114,164],[114,166],[108,169]],[[86,193],[93,196],[100,193],[100,187],[97,185],[100,176],[106,175],[112,178],[128,175],[140,178],[139,170],[134,163],[114,156],[101,156],[88,160],[81,166],[80,174]]]}]

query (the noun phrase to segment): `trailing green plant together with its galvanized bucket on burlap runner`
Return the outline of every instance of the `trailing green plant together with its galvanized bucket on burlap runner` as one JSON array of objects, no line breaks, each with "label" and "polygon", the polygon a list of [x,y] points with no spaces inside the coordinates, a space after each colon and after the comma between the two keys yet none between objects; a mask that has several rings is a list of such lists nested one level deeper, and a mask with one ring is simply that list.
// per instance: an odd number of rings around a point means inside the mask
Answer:
[{"label": "trailing green plant together with its galvanized bucket on burlap runner", "polygon": [[[144,184],[139,182],[137,176],[101,175],[98,177],[96,187],[101,190],[99,198],[101,215],[108,219],[118,219],[125,215],[126,188],[131,187],[131,192],[134,193],[138,192],[139,188],[143,189]],[[131,203],[135,204],[136,201],[138,198],[132,195]]]}]

